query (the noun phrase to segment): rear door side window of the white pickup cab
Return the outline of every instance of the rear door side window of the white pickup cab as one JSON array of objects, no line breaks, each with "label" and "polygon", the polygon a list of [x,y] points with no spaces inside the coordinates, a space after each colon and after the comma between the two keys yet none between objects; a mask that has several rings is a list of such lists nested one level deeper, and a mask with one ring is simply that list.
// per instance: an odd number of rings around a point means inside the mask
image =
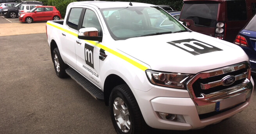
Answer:
[{"label": "rear door side window of the white pickup cab", "polygon": [[70,13],[68,15],[68,22],[67,22],[67,25],[70,28],[78,30],[78,22],[79,22],[79,17],[81,15],[81,12],[82,12],[82,8],[72,8],[70,10]]}]

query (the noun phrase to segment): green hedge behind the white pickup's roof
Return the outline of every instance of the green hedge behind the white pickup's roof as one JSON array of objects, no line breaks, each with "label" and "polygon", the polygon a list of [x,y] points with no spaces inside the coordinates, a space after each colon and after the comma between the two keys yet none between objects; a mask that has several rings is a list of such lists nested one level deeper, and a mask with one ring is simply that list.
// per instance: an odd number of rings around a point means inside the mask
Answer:
[{"label": "green hedge behind the white pickup's roof", "polygon": [[[38,0],[38,1],[43,2],[44,5],[55,6],[61,13],[61,17],[64,18],[66,14],[66,7],[68,6],[69,3],[76,2],[76,1],[89,1],[89,0]],[[105,0],[105,1],[129,2],[130,0]],[[172,8],[175,8],[177,10],[181,10],[183,6],[183,0],[131,0],[131,2],[150,3],[154,5],[170,5]]]}]

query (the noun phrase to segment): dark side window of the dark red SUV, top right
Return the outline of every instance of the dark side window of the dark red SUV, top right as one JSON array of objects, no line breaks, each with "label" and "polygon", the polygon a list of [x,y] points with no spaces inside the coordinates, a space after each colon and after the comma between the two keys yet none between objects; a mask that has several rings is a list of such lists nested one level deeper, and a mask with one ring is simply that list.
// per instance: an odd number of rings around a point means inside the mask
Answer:
[{"label": "dark side window of the dark red SUV, top right", "polygon": [[245,20],[247,20],[245,0],[227,1],[227,19],[229,21],[245,21]]}]

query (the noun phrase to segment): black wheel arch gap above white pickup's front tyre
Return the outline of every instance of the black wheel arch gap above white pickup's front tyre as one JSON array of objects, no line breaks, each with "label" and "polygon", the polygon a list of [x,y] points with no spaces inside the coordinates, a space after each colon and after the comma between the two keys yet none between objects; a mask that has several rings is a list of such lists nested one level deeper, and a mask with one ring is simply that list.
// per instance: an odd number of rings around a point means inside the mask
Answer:
[{"label": "black wheel arch gap above white pickup's front tyre", "polygon": [[107,76],[104,82],[104,101],[107,106],[109,105],[109,96],[112,89],[121,84],[126,84],[126,82],[118,75],[111,74]]}]

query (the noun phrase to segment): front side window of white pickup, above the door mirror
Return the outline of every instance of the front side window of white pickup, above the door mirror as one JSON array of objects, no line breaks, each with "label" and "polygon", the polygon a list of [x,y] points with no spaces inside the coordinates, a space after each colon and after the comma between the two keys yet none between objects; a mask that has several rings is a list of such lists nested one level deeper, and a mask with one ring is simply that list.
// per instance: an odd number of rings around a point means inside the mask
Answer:
[{"label": "front side window of white pickup, above the door mirror", "polygon": [[90,9],[86,9],[82,23],[82,28],[90,27],[97,28],[97,30],[100,32],[100,23],[95,12],[93,12]]}]

